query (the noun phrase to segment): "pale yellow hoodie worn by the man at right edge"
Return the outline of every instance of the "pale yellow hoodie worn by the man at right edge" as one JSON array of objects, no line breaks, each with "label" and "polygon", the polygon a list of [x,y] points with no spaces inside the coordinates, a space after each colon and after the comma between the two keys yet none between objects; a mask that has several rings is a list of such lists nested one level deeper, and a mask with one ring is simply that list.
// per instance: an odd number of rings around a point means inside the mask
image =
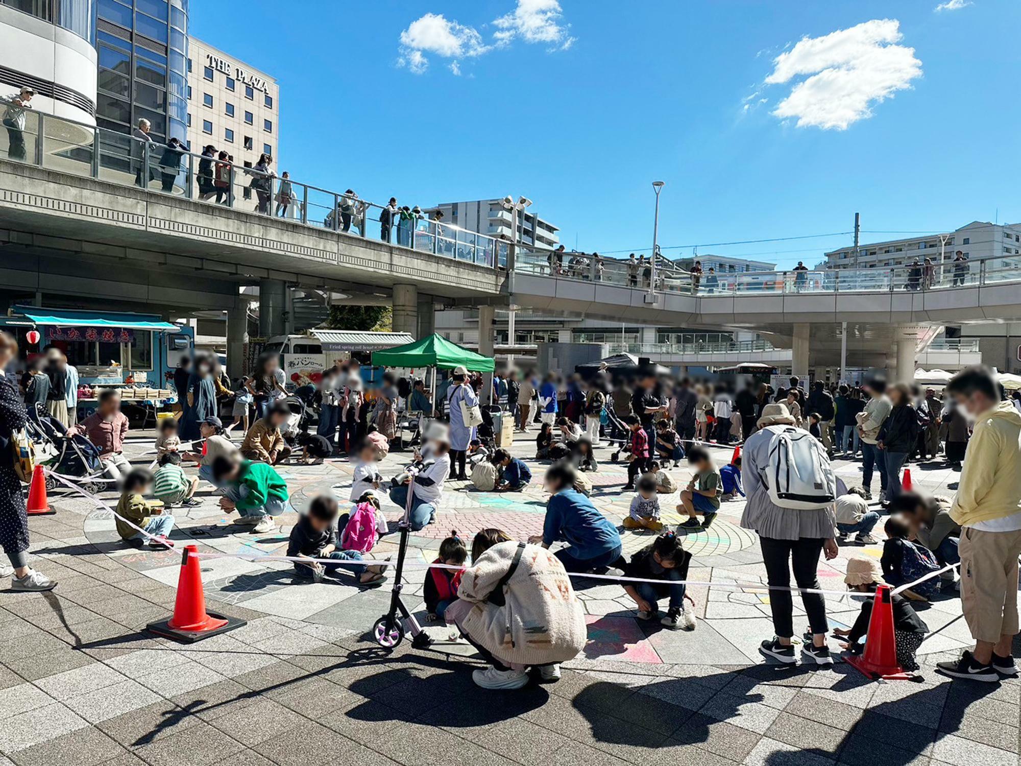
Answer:
[{"label": "pale yellow hoodie worn by the man at right edge", "polygon": [[1021,512],[1021,414],[1001,401],[978,416],[951,517],[967,526]]}]

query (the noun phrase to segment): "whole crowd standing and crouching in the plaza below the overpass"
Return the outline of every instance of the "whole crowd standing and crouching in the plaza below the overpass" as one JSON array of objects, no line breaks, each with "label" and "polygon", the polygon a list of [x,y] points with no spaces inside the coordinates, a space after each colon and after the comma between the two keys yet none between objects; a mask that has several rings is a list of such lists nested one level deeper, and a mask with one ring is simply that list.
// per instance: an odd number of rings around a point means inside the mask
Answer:
[{"label": "whole crowd standing and crouching in the plaza below the overpass", "polygon": [[[13,339],[2,336],[0,363],[15,353]],[[384,497],[406,509],[409,529],[417,531],[435,523],[449,482],[485,480],[480,488],[515,492],[533,481],[534,463],[487,438],[479,417],[485,383],[465,368],[451,371],[435,392],[422,380],[389,373],[367,391],[353,361],[324,370],[303,392],[319,411],[319,425],[302,440],[301,428],[287,433],[295,413],[285,398],[299,392],[288,392],[276,354],[259,357],[250,376],[234,382],[214,357],[198,354],[176,371],[180,412],[159,421],[148,468],[132,465],[124,454],[130,427],[116,389],[102,391],[95,412],[75,422],[77,406],[67,395],[77,387],[71,370],[58,348],[48,348],[29,366],[19,386],[0,380],[0,436],[10,439],[23,427],[27,404],[40,404],[71,432],[87,435],[119,492],[116,529],[126,544],[173,547],[173,509],[197,505],[202,481],[215,488],[225,514],[237,515],[236,524],[254,533],[273,530],[279,516],[294,510],[280,466],[346,453],[352,465],[349,505],[345,510],[336,497],[315,498],[290,532],[288,555],[295,558],[296,582],[341,577],[372,586],[386,579],[385,564],[363,560],[393,531],[381,510]],[[1007,398],[988,371],[960,373],[942,399],[934,390],[886,385],[879,378],[836,387],[817,381],[808,391],[791,378],[789,387],[774,391],[768,384],[674,381],[660,369],[641,370],[630,380],[615,379],[606,369],[587,379],[510,371],[494,376],[492,391],[519,431],[538,426],[536,458],[548,462],[541,484],[549,499],[541,534],[515,541],[489,529],[469,545],[452,532],[440,546],[437,568],[426,574],[430,619],[455,626],[489,662],[475,674],[480,685],[520,687],[528,682],[529,668],[555,680],[558,663],[580,651],[584,619],[569,575],[638,578],[642,581],[624,584],[638,619],[692,629],[685,586],[691,557],[684,537],[711,527],[723,504],[738,496],[745,498],[740,524],[758,535],[771,587],[775,635],[760,648],[770,661],[797,661],[793,594],[800,590],[810,625],[800,661],[833,662],[826,602],[814,592],[819,562],[837,556],[841,546],[878,544],[873,532],[882,523],[879,560],[853,556],[845,582],[862,594],[883,582],[907,586],[893,601],[902,665],[917,667],[915,652],[928,631],[917,605],[959,587],[975,649],[940,670],[990,681],[1016,674],[1011,641],[1018,632],[1021,402],[1016,393]],[[415,470],[384,478],[380,461],[394,445],[398,414],[408,412],[431,418],[414,456]],[[242,428],[240,439],[225,427],[228,417],[231,428]],[[952,439],[956,423],[963,437],[955,431]],[[597,466],[595,448],[607,441],[628,461],[622,491],[634,493],[620,526],[593,505],[585,477]],[[735,441],[742,445],[740,453],[718,468],[711,447],[729,448]],[[961,446],[954,446],[959,441]],[[862,481],[848,486],[834,478],[830,461],[854,458],[859,450]],[[956,496],[906,489],[904,465],[935,460],[940,451],[950,465],[961,465]],[[806,482],[800,488],[779,486],[778,452],[797,462],[801,473],[812,465],[817,474],[800,476]],[[682,460],[690,479],[679,485],[670,469]],[[878,496],[872,501],[875,473]],[[673,492],[681,522],[669,529],[661,500]],[[652,536],[625,557],[627,531]],[[56,585],[28,566],[25,500],[12,466],[0,466],[0,544],[10,560],[14,589]],[[539,553],[544,549],[549,553]],[[521,574],[516,567],[524,568]],[[509,581],[501,582],[507,576]],[[502,603],[494,589],[502,591]],[[850,652],[861,650],[870,609],[866,597],[863,617],[835,633]],[[515,643],[518,623],[507,626],[500,617],[507,610],[535,616],[532,640]],[[547,649],[537,648],[535,635]]]}]

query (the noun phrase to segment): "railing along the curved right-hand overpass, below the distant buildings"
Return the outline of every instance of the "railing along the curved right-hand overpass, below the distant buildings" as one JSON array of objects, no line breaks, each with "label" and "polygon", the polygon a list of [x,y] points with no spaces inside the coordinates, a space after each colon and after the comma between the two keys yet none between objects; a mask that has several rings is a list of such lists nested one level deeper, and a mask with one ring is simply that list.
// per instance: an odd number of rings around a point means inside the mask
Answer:
[{"label": "railing along the curved right-hand overpass, below the distant buildings", "polygon": [[[557,279],[599,282],[649,289],[647,262],[595,258],[584,253],[522,252],[515,272]],[[834,292],[925,292],[1021,282],[1021,255],[1003,255],[925,267],[827,269],[822,271],[727,272],[721,274],[657,271],[655,291],[685,295],[812,294]]]}]

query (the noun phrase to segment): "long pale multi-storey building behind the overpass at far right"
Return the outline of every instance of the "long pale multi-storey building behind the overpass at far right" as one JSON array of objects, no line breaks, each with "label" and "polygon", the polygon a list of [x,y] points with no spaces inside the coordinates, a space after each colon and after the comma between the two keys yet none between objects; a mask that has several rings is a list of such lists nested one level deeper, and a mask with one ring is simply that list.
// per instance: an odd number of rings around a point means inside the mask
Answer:
[{"label": "long pale multi-storey building behind the overpass at far right", "polygon": [[[943,234],[929,234],[887,242],[872,242],[858,247],[841,247],[826,253],[827,269],[875,269],[906,266],[915,258],[953,260],[961,250],[970,260],[1021,255],[1021,224],[990,224],[973,221]],[[857,266],[856,266],[857,265]]]}]

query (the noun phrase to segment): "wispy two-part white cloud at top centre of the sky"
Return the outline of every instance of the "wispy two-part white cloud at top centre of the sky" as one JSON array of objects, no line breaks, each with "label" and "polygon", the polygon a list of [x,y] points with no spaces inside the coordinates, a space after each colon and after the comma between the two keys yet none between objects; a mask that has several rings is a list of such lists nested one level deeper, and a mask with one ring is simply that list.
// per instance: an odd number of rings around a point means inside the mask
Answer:
[{"label": "wispy two-part white cloud at top centre of the sky", "polygon": [[487,43],[474,27],[447,19],[442,13],[426,13],[400,33],[397,65],[421,75],[429,67],[428,53],[453,59],[448,68],[460,75],[460,59],[506,47],[516,39],[543,43],[550,51],[567,50],[576,38],[569,34],[571,26],[564,23],[563,17],[557,0],[517,0],[513,11],[493,20],[496,32]]}]

